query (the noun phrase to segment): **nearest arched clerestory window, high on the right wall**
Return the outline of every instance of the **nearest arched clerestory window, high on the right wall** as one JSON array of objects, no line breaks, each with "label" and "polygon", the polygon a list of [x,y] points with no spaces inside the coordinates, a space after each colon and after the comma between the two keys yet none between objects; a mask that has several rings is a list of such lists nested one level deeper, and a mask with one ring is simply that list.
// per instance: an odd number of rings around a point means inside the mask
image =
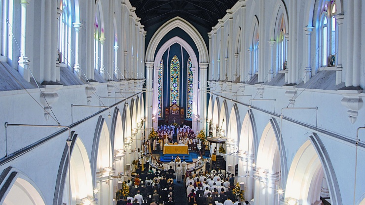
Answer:
[{"label": "nearest arched clerestory window, high on the right wall", "polygon": [[337,49],[336,2],[326,0],[322,6],[320,19],[321,66],[335,66]]}]

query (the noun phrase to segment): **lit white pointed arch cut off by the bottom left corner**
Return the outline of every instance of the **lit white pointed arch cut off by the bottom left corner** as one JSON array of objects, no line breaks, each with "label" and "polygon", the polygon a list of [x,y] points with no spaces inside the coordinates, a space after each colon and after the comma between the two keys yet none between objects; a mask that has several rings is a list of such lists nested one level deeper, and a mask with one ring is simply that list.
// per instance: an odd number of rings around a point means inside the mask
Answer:
[{"label": "lit white pointed arch cut off by the bottom left corner", "polygon": [[1,187],[3,193],[0,194],[0,204],[45,205],[42,193],[31,179],[11,167],[4,172],[6,171],[8,172],[7,176],[3,176],[6,178],[6,182]]}]

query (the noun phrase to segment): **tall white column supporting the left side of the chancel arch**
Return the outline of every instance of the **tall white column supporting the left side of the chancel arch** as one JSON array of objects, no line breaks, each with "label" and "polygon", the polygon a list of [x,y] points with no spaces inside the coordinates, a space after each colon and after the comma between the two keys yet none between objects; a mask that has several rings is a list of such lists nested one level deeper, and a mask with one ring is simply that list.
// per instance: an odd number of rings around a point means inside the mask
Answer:
[{"label": "tall white column supporting the left side of the chancel arch", "polygon": [[149,135],[150,129],[152,128],[152,72],[153,72],[153,62],[146,62],[146,129]]}]

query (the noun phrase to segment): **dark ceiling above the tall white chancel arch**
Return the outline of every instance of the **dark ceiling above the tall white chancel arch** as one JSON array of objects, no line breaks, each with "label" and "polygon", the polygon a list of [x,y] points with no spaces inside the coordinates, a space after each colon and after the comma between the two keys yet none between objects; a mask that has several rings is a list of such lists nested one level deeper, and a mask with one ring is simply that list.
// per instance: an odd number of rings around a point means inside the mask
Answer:
[{"label": "dark ceiling above the tall white chancel arch", "polygon": [[[218,23],[237,0],[130,0],[141,23],[151,27],[180,16],[207,31]],[[148,31],[147,31],[148,33]]]}]

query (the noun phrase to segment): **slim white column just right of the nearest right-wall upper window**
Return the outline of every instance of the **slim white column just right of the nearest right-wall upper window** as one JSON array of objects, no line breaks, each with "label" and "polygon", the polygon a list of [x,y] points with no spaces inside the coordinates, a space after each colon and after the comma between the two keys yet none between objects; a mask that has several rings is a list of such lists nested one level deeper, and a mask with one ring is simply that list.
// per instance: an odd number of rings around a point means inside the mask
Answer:
[{"label": "slim white column just right of the nearest right-wall upper window", "polygon": [[338,24],[338,47],[337,47],[337,68],[336,68],[336,85],[340,84],[342,82],[342,43],[343,43],[343,14],[337,14],[336,15],[336,21]]}]

